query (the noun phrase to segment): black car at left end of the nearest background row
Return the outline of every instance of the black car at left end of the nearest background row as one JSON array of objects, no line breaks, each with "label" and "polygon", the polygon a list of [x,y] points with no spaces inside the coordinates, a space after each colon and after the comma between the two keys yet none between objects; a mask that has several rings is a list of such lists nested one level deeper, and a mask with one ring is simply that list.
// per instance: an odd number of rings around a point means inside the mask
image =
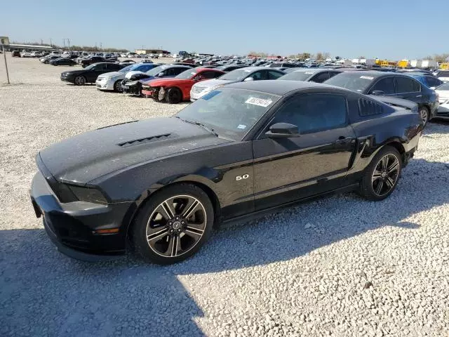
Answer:
[{"label": "black car at left end of the nearest background row", "polygon": [[98,75],[106,72],[118,72],[124,67],[126,65],[119,65],[118,63],[94,63],[81,70],[61,72],[61,81],[67,81],[76,86],[83,86],[86,83],[95,83]]}]

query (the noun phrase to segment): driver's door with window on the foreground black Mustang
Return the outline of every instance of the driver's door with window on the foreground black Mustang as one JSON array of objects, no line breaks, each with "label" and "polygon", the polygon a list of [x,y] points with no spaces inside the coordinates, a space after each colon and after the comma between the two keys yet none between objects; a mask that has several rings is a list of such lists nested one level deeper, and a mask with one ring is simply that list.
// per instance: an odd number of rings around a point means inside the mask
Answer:
[{"label": "driver's door with window on the foreground black Mustang", "polygon": [[[345,95],[295,94],[253,141],[255,208],[284,204],[344,185],[355,150]],[[269,138],[276,123],[298,126],[300,136]]]}]

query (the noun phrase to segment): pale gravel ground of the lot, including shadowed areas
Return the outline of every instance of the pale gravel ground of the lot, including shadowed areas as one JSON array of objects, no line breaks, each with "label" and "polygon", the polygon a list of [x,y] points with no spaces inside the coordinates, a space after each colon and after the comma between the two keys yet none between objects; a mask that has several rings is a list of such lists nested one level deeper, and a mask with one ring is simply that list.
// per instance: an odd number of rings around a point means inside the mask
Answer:
[{"label": "pale gravel ground of the lot, including shadowed areas", "polygon": [[[36,152],[182,105],[63,84],[12,59],[0,86],[0,336],[449,336],[449,124],[429,124],[394,194],[343,194],[218,230],[169,267],[55,250],[28,188]],[[0,83],[6,81],[0,59]]]}]

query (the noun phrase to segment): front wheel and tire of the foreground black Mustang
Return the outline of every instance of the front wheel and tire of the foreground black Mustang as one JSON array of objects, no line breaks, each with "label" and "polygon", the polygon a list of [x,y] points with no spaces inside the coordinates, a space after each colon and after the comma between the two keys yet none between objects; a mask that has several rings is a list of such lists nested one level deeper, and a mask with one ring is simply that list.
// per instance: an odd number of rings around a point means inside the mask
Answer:
[{"label": "front wheel and tire of the foreground black Mustang", "polygon": [[213,222],[213,206],[206,192],[182,183],[166,187],[146,201],[135,217],[130,239],[144,260],[169,265],[199,251]]}]

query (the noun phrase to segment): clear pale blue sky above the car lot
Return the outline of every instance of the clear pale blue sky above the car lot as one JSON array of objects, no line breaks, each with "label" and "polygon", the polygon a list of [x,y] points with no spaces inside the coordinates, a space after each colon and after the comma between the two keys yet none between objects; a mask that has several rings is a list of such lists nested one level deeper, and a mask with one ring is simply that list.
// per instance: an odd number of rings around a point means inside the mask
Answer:
[{"label": "clear pale blue sky above the car lot", "polygon": [[222,55],[329,52],[423,58],[449,52],[449,0],[12,0],[0,35],[103,47]]}]

